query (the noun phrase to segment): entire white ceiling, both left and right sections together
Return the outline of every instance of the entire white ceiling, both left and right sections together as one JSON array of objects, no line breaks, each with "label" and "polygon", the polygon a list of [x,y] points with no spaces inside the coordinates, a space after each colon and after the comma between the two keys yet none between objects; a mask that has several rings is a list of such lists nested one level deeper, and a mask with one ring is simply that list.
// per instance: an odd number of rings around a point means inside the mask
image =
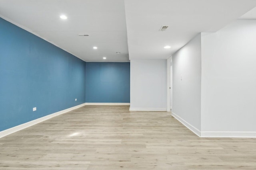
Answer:
[{"label": "entire white ceiling, both left and right sections together", "polygon": [[[217,31],[255,6],[256,0],[0,0],[0,16],[84,61],[125,62],[167,59],[196,34]],[[169,28],[158,31],[162,25]]]}]

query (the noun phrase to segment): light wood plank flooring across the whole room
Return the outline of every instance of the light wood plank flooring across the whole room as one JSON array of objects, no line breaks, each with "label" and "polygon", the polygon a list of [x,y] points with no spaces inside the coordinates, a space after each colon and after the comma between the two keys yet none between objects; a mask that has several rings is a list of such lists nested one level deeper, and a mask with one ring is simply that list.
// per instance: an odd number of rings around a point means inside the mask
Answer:
[{"label": "light wood plank flooring across the whole room", "polygon": [[256,170],[256,139],[200,138],[170,112],[84,106],[0,139],[1,170]]}]

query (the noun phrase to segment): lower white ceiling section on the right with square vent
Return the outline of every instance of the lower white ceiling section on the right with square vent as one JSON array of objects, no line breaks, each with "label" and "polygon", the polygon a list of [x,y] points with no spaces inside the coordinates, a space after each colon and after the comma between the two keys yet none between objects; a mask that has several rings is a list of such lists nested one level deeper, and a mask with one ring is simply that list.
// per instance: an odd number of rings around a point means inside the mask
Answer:
[{"label": "lower white ceiling section on the right with square vent", "polygon": [[[218,31],[255,6],[256,0],[125,0],[130,59],[167,59],[196,34]],[[161,25],[169,28],[158,31]]]}]

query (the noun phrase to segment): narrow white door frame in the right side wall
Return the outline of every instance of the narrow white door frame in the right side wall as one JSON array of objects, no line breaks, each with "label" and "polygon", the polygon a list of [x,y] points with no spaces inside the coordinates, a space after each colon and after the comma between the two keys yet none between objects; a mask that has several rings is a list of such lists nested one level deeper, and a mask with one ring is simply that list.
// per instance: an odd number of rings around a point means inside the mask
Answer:
[{"label": "narrow white door frame in the right side wall", "polygon": [[172,56],[167,59],[167,111],[172,109]]}]

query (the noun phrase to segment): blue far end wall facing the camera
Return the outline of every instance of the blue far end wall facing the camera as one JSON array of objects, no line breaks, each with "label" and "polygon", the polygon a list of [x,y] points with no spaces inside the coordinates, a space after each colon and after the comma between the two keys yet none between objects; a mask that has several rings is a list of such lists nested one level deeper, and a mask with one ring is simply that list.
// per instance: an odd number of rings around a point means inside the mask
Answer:
[{"label": "blue far end wall facing the camera", "polygon": [[130,63],[86,62],[86,103],[130,103]]}]

